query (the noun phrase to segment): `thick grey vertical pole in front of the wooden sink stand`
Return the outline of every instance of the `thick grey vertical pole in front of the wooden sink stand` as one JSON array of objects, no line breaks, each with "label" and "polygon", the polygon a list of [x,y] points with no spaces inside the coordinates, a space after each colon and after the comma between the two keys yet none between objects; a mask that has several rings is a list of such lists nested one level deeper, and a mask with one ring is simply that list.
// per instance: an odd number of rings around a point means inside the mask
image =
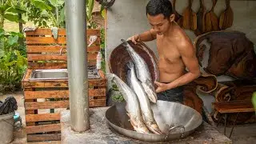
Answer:
[{"label": "thick grey vertical pole in front of the wooden sink stand", "polygon": [[86,1],[66,0],[67,69],[70,91],[70,126],[83,132],[90,129],[87,42],[86,42]]}]

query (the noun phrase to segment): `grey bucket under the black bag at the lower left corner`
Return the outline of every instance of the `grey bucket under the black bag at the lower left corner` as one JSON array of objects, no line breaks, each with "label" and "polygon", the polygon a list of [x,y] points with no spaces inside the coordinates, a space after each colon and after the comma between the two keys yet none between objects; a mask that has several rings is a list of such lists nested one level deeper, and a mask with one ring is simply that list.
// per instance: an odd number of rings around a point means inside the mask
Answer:
[{"label": "grey bucket under the black bag at the lower left corner", "polygon": [[0,115],[0,143],[10,143],[14,140],[14,112]]}]

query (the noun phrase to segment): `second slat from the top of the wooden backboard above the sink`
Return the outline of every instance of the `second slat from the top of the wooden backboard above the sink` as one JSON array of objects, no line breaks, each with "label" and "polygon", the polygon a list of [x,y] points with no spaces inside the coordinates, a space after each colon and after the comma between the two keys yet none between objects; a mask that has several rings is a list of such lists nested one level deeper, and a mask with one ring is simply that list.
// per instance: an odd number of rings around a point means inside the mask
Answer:
[{"label": "second slat from the top of the wooden backboard above the sink", "polygon": [[[99,43],[100,38],[97,38],[97,40],[94,43]],[[87,43],[89,43],[89,39],[87,39]],[[63,45],[66,44],[66,37],[58,37],[57,39],[54,39],[54,37],[26,37],[26,44],[32,45],[32,44],[59,44]]]}]

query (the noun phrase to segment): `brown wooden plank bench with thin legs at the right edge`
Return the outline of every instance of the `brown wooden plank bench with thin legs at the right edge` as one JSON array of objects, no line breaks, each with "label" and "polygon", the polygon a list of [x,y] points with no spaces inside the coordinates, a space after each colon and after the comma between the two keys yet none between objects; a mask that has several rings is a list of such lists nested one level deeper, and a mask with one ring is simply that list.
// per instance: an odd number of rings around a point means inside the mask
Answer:
[{"label": "brown wooden plank bench with thin legs at the right edge", "polygon": [[221,114],[221,117],[219,118],[218,123],[221,121],[222,118],[224,118],[224,125],[225,125],[224,126],[224,134],[225,135],[226,135],[226,118],[228,117],[228,114],[237,113],[236,118],[234,120],[234,124],[230,131],[229,138],[231,137],[231,134],[234,130],[234,126],[236,124],[238,114],[254,112],[254,106],[253,106],[251,100],[234,100],[234,101],[230,101],[230,102],[213,102],[213,106],[214,106],[214,110],[217,110]]}]

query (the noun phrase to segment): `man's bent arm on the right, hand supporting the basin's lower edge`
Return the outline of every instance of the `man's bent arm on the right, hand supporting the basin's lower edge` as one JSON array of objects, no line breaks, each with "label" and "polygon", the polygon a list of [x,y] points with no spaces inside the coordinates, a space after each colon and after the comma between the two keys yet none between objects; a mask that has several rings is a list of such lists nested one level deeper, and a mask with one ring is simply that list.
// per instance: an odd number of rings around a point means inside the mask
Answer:
[{"label": "man's bent arm on the right, hand supporting the basin's lower edge", "polygon": [[186,85],[187,83],[192,82],[195,78],[200,76],[200,69],[194,46],[190,42],[184,42],[178,47],[178,50],[182,56],[182,61],[184,62],[188,72],[182,75],[180,78],[174,80],[174,82],[170,82],[169,84],[155,82],[158,85],[158,89],[156,90],[157,93],[164,90],[170,90],[178,86]]}]

